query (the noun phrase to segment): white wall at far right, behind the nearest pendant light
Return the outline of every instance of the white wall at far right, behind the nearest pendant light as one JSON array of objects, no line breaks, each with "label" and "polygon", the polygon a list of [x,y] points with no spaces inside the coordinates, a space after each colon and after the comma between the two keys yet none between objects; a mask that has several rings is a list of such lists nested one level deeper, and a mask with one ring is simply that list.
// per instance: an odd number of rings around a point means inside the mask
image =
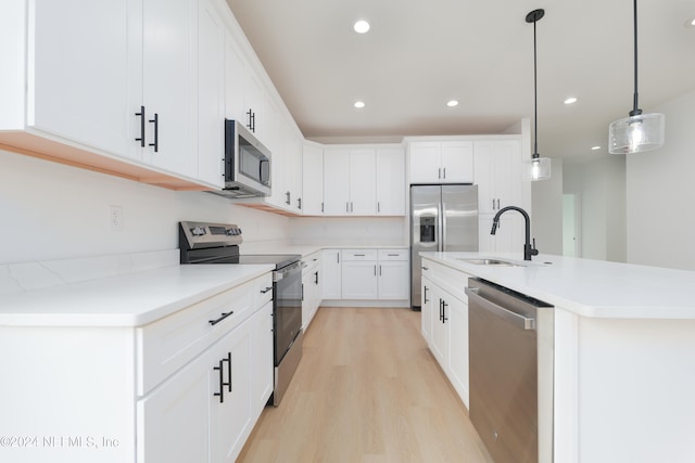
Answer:
[{"label": "white wall at far right, behind the nearest pendant light", "polygon": [[627,159],[628,260],[695,270],[695,92],[659,107],[666,145]]}]

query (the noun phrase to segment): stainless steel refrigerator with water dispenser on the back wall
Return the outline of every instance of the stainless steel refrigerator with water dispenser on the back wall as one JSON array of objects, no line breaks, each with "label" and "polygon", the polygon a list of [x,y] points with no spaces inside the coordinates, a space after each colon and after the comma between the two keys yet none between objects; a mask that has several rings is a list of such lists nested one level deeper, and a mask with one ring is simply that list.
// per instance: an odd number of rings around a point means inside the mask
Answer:
[{"label": "stainless steel refrigerator with water dispenser on the back wall", "polygon": [[478,250],[478,185],[410,187],[410,304],[416,310],[425,250]]}]

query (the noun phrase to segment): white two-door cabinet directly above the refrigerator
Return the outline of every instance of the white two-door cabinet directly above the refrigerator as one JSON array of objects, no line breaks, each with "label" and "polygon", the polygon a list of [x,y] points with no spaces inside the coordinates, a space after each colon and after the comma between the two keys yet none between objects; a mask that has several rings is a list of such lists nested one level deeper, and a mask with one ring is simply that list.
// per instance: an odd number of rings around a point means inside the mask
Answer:
[{"label": "white two-door cabinet directly above the refrigerator", "polygon": [[473,182],[472,141],[412,141],[408,152],[410,183]]}]

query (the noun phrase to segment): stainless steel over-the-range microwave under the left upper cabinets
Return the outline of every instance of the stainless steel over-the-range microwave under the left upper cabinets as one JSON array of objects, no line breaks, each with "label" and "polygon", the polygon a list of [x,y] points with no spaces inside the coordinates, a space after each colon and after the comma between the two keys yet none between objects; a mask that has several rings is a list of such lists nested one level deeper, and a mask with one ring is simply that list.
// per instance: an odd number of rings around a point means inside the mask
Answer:
[{"label": "stainless steel over-the-range microwave under the left upper cabinets", "polygon": [[211,193],[236,198],[270,195],[270,151],[237,120],[225,119],[225,187]]}]

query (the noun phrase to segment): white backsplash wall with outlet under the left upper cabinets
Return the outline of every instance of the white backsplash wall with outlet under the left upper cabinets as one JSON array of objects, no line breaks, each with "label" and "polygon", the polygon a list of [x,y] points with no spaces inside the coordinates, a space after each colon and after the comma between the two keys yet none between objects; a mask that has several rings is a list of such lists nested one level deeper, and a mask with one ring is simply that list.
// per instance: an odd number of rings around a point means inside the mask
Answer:
[{"label": "white backsplash wall with outlet under the left upper cabinets", "polygon": [[[121,232],[110,230],[110,205],[123,207]],[[0,211],[0,265],[175,249],[179,220],[237,223],[244,242],[288,240],[289,229],[283,216],[208,193],[175,192],[4,151]]]}]

